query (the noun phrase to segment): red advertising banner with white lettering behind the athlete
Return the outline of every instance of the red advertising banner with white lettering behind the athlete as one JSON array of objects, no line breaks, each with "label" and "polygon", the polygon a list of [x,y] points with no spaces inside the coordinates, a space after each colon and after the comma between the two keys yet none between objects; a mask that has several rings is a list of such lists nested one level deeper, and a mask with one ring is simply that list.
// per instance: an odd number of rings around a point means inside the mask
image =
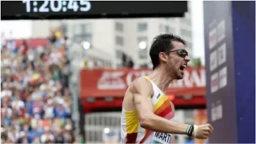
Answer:
[{"label": "red advertising banner with white lettering behind the athlete", "polygon": [[[153,70],[81,70],[80,97],[123,97],[135,78],[151,74]],[[166,94],[175,96],[205,95],[206,74],[204,68],[186,68],[184,78],[170,83]]]}]

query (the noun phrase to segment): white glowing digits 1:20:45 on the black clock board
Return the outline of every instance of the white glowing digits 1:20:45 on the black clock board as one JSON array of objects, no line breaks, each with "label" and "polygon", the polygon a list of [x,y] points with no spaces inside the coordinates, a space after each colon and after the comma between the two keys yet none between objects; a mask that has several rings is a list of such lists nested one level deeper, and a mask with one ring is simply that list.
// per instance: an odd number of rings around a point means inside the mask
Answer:
[{"label": "white glowing digits 1:20:45 on the black clock board", "polygon": [[26,4],[27,13],[49,13],[49,12],[66,12],[72,10],[74,12],[86,12],[90,10],[90,2],[88,1],[30,1],[23,0],[23,4]]}]

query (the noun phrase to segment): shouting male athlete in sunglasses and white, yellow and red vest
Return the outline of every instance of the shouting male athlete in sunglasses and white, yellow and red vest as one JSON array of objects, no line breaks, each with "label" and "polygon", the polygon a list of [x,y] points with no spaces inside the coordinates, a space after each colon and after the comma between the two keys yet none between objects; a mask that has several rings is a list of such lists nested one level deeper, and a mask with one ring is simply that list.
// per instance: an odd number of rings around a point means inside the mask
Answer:
[{"label": "shouting male athlete in sunglasses and white, yellow and red vest", "polygon": [[153,74],[130,84],[122,103],[122,143],[171,143],[171,134],[205,139],[213,132],[210,124],[188,125],[172,122],[174,104],[165,91],[174,79],[182,79],[190,62],[186,43],[173,34],[161,34],[150,47]]}]

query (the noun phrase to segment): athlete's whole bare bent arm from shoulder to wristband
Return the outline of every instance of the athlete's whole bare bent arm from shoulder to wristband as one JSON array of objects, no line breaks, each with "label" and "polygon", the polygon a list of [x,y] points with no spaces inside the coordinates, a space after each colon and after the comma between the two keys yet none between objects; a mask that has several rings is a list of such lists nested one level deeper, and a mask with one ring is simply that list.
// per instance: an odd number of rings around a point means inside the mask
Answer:
[{"label": "athlete's whole bare bent arm from shoulder to wristband", "polygon": [[130,92],[134,95],[134,106],[138,111],[139,121],[143,128],[169,134],[186,134],[187,124],[171,122],[154,114],[151,102],[153,89],[146,78],[136,79],[130,88]]}]

